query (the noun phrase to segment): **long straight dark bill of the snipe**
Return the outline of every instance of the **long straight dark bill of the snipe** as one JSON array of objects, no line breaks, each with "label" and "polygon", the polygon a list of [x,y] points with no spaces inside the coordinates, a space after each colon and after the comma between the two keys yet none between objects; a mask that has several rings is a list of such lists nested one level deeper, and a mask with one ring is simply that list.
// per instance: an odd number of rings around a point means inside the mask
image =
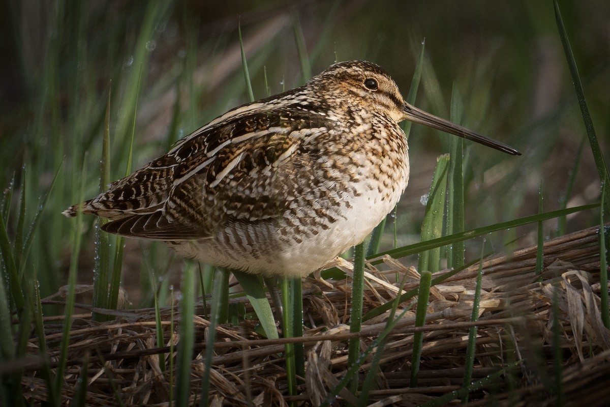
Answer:
[{"label": "long straight dark bill of the snipe", "polygon": [[495,148],[503,153],[512,154],[513,156],[521,155],[517,149],[514,149],[509,145],[489,139],[489,137],[485,137],[484,135],[470,131],[467,128],[458,126],[458,124],[451,123],[451,121],[431,115],[430,113],[417,109],[417,107],[411,106],[408,103],[404,104],[403,119],[412,121],[413,123],[423,124],[424,126],[438,129],[446,133],[458,135],[459,137],[464,137],[464,139],[472,140],[473,142],[483,144],[484,146]]}]

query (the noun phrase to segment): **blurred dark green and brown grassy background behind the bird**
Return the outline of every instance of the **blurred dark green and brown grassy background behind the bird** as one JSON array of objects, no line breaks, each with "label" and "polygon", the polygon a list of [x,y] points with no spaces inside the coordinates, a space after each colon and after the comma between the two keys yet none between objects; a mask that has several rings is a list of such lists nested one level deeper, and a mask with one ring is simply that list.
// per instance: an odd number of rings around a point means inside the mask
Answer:
[{"label": "blurred dark green and brown grassy background behind the bird", "polygon": [[[559,5],[608,156],[610,2]],[[26,220],[34,217],[40,196],[59,170],[28,258],[42,297],[65,284],[74,223],[60,212],[77,201],[84,162],[85,196],[99,189],[109,91],[110,176],[118,179],[125,173],[136,106],[133,169],[248,101],[238,24],[256,98],[300,85],[335,60],[351,59],[384,67],[406,97],[425,38],[415,104],[448,118],[455,86],[462,124],[523,153],[510,157],[467,143],[467,229],[536,214],[540,187],[545,211],[558,209],[566,192],[568,206],[599,200],[600,179],[588,143],[578,154],[586,132],[551,1],[4,0],[0,185],[15,185],[17,192],[5,198],[2,211],[12,213],[18,206],[24,184]],[[301,35],[305,48],[300,52]],[[436,156],[448,151],[449,137],[412,127],[411,181],[395,217],[398,245],[419,239],[425,209],[420,198],[428,192]],[[576,171],[572,190],[567,185],[570,171]],[[18,220],[14,215],[7,219],[10,234]],[[90,284],[93,219],[86,222],[79,279]],[[596,222],[598,213],[583,212],[569,217],[565,229],[546,222],[545,234]],[[393,222],[387,228],[382,249],[394,244]],[[503,243],[523,247],[535,240],[536,225],[492,239],[498,253]],[[480,245],[472,250],[478,253]],[[134,305],[151,301],[148,271],[143,270],[157,268],[160,273],[170,258],[162,245],[127,240],[123,280]]]}]

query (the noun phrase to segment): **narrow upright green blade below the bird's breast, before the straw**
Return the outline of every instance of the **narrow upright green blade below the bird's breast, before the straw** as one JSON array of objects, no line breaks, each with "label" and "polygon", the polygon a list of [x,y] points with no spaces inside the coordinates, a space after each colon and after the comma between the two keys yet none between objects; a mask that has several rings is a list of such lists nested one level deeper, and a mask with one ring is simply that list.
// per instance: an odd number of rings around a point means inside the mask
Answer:
[{"label": "narrow upright green blade below the bird's breast, before the straw", "polygon": [[[351,289],[350,333],[358,333],[362,327],[362,302],[364,295],[364,243],[354,247],[354,277]],[[348,366],[353,366],[360,355],[360,338],[350,338],[348,344]],[[362,363],[362,362],[361,362]],[[358,375],[354,375],[350,390],[356,394]]]}]

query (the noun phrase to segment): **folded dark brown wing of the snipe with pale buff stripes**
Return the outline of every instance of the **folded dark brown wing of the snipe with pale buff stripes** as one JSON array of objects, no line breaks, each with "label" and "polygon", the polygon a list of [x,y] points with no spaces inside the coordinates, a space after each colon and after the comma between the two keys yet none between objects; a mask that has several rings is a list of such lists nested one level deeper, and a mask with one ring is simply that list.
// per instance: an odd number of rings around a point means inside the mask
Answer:
[{"label": "folded dark brown wing of the snipe with pale buff stripes", "polygon": [[273,222],[298,201],[300,189],[317,182],[309,163],[319,157],[310,146],[329,125],[321,115],[284,108],[204,127],[113,184],[102,194],[108,199],[96,198],[115,211],[103,229],[192,240],[211,237],[228,222]]}]

